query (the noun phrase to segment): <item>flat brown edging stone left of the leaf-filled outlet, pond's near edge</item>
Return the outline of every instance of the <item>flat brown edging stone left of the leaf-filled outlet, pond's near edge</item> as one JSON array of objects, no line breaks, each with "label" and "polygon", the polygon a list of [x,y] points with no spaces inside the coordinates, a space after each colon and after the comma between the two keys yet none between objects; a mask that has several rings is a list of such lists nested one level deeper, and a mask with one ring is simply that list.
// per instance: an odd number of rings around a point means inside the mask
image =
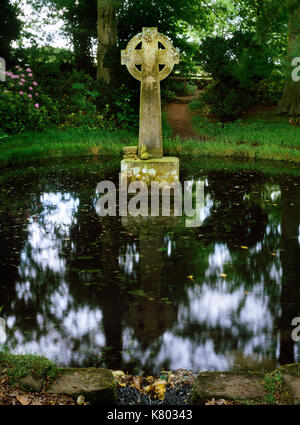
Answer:
[{"label": "flat brown edging stone left of the leaf-filled outlet, pond's near edge", "polygon": [[46,388],[49,394],[64,394],[75,400],[83,395],[98,405],[116,404],[116,383],[110,370],[97,368],[61,369],[59,376]]}]

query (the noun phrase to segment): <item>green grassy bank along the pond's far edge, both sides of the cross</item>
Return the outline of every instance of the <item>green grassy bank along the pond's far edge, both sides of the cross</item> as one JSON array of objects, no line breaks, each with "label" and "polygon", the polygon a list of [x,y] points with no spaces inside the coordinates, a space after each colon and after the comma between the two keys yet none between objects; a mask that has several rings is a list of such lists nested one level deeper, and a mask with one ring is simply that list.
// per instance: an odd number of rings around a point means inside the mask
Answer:
[{"label": "green grassy bank along the pond's far edge, both sides of the cross", "polygon": [[[300,125],[287,119],[249,117],[232,124],[193,117],[193,126],[204,140],[171,139],[164,123],[166,155],[267,159],[300,163]],[[122,147],[136,145],[137,134],[125,130],[49,129],[0,138],[0,166],[26,164],[33,160],[83,155],[120,157]]]}]

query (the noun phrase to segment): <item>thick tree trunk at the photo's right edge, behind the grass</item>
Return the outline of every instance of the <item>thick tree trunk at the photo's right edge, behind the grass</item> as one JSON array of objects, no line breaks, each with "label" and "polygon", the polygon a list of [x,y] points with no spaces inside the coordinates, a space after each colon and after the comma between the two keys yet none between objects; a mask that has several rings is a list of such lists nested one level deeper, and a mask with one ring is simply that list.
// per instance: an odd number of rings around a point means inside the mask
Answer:
[{"label": "thick tree trunk at the photo's right edge, behind the grass", "polygon": [[292,60],[300,57],[300,6],[290,16],[288,38],[288,78],[285,83],[282,98],[277,106],[277,113],[281,115],[300,115],[300,81],[292,79]]}]

